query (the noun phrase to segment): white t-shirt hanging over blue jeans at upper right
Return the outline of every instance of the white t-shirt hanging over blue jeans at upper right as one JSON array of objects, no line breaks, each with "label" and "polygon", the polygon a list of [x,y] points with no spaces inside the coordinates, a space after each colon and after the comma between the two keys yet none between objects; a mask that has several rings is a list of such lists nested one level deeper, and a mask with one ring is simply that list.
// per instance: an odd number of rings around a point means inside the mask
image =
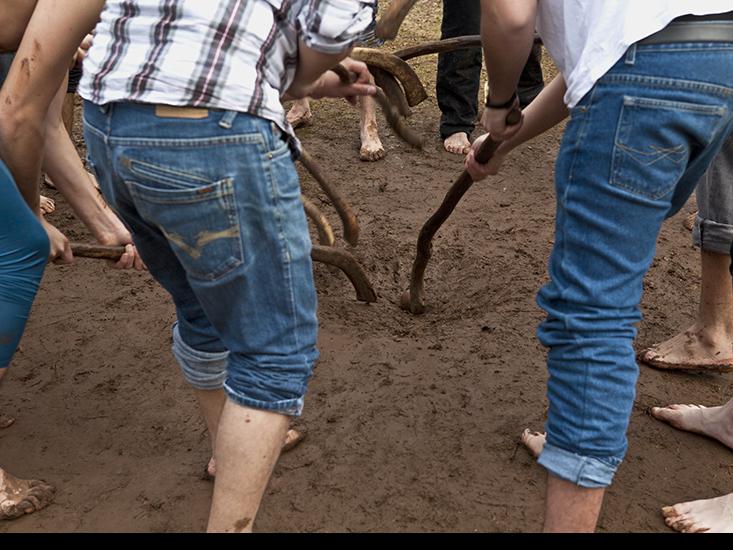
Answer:
[{"label": "white t-shirt hanging over blue jeans at upper right", "polygon": [[539,0],[537,30],[574,107],[642,38],[681,15],[733,11],[733,0]]}]

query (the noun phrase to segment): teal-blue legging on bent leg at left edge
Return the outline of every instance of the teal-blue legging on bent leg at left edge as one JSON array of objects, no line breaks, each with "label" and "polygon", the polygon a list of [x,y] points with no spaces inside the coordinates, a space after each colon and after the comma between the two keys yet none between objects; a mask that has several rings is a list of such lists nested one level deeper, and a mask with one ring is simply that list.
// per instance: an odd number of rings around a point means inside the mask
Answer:
[{"label": "teal-blue legging on bent leg at left edge", "polygon": [[49,248],[46,231],[0,161],[0,369],[23,335]]}]

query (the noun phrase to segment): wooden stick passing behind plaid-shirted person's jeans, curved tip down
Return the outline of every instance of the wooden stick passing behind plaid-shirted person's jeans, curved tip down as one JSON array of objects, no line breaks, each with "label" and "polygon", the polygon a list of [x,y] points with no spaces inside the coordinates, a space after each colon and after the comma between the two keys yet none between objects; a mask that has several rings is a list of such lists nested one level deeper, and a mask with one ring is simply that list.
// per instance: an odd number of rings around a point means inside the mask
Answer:
[{"label": "wooden stick passing behind plaid-shirted person's jeans, curved tip down", "polygon": [[[79,258],[95,258],[116,262],[125,253],[124,246],[102,246],[97,244],[71,243],[71,251]],[[356,299],[361,302],[377,301],[377,293],[359,262],[345,250],[330,246],[314,245],[311,250],[314,262],[321,262],[338,267],[351,281],[356,290]]]}]

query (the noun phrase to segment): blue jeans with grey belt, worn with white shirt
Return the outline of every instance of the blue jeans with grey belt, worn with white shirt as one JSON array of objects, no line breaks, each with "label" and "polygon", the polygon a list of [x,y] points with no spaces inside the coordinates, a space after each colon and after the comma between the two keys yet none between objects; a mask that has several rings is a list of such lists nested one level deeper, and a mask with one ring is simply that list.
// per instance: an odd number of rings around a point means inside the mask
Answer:
[{"label": "blue jeans with grey belt, worn with white shirt", "polygon": [[626,453],[644,274],[662,222],[731,133],[732,113],[728,43],[632,46],[571,111],[551,280],[537,299],[550,374],[539,463],[559,478],[605,487]]}]

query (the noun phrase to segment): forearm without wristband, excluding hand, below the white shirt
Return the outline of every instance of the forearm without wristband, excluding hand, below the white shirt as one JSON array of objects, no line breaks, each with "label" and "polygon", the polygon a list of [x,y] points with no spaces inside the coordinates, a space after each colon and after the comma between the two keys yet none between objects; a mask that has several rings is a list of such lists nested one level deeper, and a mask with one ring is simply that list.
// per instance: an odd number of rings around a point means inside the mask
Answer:
[{"label": "forearm without wristband, excluding hand, below the white shirt", "polygon": [[524,109],[524,124],[513,137],[501,145],[501,151],[508,153],[522,143],[529,141],[559,124],[568,116],[564,97],[567,86],[562,76],[557,76]]}]

